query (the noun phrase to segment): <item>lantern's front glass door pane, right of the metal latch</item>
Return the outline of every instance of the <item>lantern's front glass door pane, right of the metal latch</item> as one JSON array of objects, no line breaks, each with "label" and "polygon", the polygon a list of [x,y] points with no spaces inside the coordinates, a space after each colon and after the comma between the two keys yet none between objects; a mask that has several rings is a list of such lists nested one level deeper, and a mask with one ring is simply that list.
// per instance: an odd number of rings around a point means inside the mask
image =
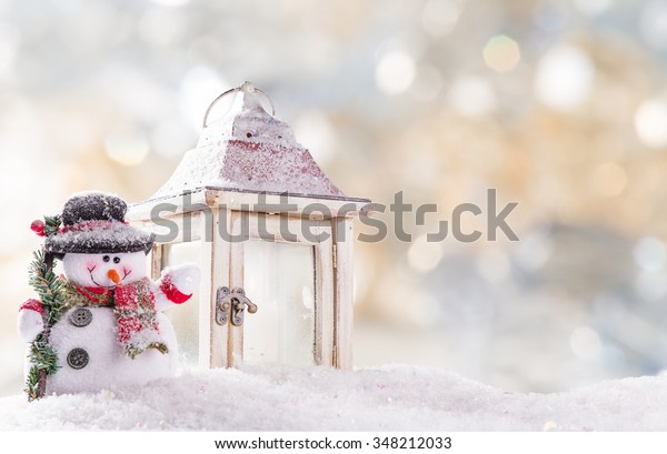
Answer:
[{"label": "lantern's front glass door pane, right of the metal latch", "polygon": [[243,287],[259,307],[246,314],[243,362],[315,363],[315,278],[312,245],[243,243]]}]

